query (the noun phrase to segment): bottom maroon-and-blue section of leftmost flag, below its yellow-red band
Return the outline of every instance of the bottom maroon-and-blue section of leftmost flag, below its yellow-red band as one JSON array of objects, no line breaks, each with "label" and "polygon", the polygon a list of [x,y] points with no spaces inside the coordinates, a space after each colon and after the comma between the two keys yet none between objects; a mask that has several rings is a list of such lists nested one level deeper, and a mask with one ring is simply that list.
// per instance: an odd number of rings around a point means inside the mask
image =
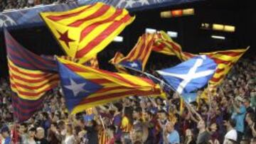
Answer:
[{"label": "bottom maroon-and-blue section of leftmost flag, below its yellow-red band", "polygon": [[31,118],[36,111],[43,109],[44,96],[36,100],[22,99],[15,94],[11,96],[14,116],[18,122],[23,122]]}]

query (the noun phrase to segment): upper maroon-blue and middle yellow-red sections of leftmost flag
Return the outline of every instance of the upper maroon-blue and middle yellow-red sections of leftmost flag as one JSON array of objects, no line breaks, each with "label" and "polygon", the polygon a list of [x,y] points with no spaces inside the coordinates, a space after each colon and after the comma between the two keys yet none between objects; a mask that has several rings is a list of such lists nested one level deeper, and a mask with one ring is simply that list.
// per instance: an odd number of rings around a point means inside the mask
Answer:
[{"label": "upper maroon-blue and middle yellow-red sections of leftmost flag", "polygon": [[11,89],[22,99],[40,99],[58,85],[57,64],[54,60],[26,50],[7,30],[4,30]]}]

